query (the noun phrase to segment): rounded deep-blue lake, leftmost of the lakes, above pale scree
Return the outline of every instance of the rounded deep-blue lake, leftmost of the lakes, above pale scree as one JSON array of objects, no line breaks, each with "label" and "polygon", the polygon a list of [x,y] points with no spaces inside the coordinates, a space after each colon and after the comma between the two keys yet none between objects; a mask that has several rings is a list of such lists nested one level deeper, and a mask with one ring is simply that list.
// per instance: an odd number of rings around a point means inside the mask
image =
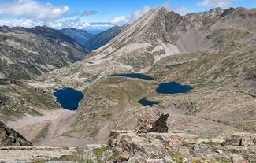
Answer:
[{"label": "rounded deep-blue lake, leftmost of the lakes, above pale scree", "polygon": [[62,108],[69,110],[76,110],[79,106],[79,102],[84,98],[83,92],[76,91],[72,88],[55,90],[54,96],[57,98],[57,102]]}]

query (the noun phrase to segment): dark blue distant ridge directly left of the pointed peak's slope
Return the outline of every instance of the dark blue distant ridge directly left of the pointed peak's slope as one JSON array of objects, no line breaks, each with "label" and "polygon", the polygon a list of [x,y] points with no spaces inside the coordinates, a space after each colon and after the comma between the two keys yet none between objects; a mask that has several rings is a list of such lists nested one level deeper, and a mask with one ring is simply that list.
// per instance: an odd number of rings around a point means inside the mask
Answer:
[{"label": "dark blue distant ridge directly left of the pointed peak's slope", "polygon": [[96,50],[99,47],[106,45],[106,43],[109,43],[111,39],[116,37],[126,27],[127,25],[124,25],[122,27],[114,26],[113,28],[109,28],[108,30],[103,31],[98,35],[94,35],[91,39],[87,41],[87,48],[90,50]]}]

